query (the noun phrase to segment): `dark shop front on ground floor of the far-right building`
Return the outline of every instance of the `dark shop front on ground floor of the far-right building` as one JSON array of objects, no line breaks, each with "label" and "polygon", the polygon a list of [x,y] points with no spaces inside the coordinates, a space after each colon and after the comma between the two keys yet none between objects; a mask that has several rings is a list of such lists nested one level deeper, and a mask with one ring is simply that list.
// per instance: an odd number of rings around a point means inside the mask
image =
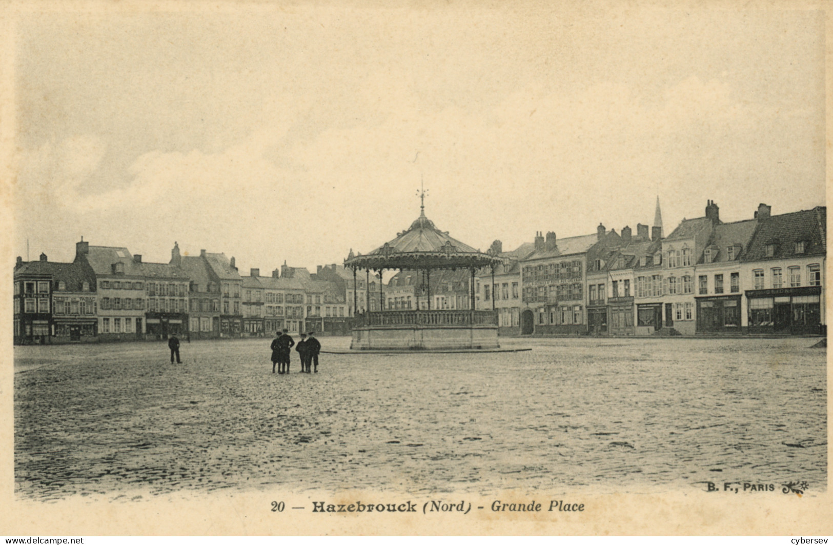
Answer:
[{"label": "dark shop front on ground floor of the far-right building", "polygon": [[824,334],[821,287],[746,290],[749,333]]}]

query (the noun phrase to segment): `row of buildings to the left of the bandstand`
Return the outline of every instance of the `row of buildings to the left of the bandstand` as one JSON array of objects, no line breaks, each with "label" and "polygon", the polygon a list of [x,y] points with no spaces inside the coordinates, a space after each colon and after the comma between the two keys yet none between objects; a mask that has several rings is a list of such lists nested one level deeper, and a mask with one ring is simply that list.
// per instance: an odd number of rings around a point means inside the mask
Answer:
[{"label": "row of buildings to the left of the bandstand", "polygon": [[[364,297],[364,282],[357,281]],[[17,258],[15,343],[67,343],[272,335],[286,328],[347,335],[353,274],[332,264],[242,276],[234,258],[200,251],[147,263],[127,248],[76,244],[72,263]],[[351,296],[347,297],[350,292]],[[363,300],[363,299],[362,299]]]}]

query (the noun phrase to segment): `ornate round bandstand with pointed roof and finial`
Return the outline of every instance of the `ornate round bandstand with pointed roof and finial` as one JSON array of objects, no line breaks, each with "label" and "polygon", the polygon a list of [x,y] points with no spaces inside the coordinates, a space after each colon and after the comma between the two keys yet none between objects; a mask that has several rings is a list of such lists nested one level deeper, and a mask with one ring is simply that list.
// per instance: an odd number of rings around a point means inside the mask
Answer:
[{"label": "ornate round bandstand with pointed roof and finial", "polygon": [[[365,255],[351,256],[344,266],[353,271],[355,286],[359,270],[367,275],[367,309],[356,314],[352,350],[488,350],[499,348],[497,319],[492,310],[475,309],[475,272],[494,268],[501,258],[481,253],[440,231],[425,216],[422,193],[420,216],[397,238]],[[385,309],[382,273],[387,269],[416,271],[420,278],[416,308]],[[431,308],[431,271],[466,269],[470,274],[469,309]],[[370,293],[371,271],[379,280],[379,293]],[[379,308],[370,311],[371,298],[379,298]],[[353,290],[353,308],[357,308]]]}]

